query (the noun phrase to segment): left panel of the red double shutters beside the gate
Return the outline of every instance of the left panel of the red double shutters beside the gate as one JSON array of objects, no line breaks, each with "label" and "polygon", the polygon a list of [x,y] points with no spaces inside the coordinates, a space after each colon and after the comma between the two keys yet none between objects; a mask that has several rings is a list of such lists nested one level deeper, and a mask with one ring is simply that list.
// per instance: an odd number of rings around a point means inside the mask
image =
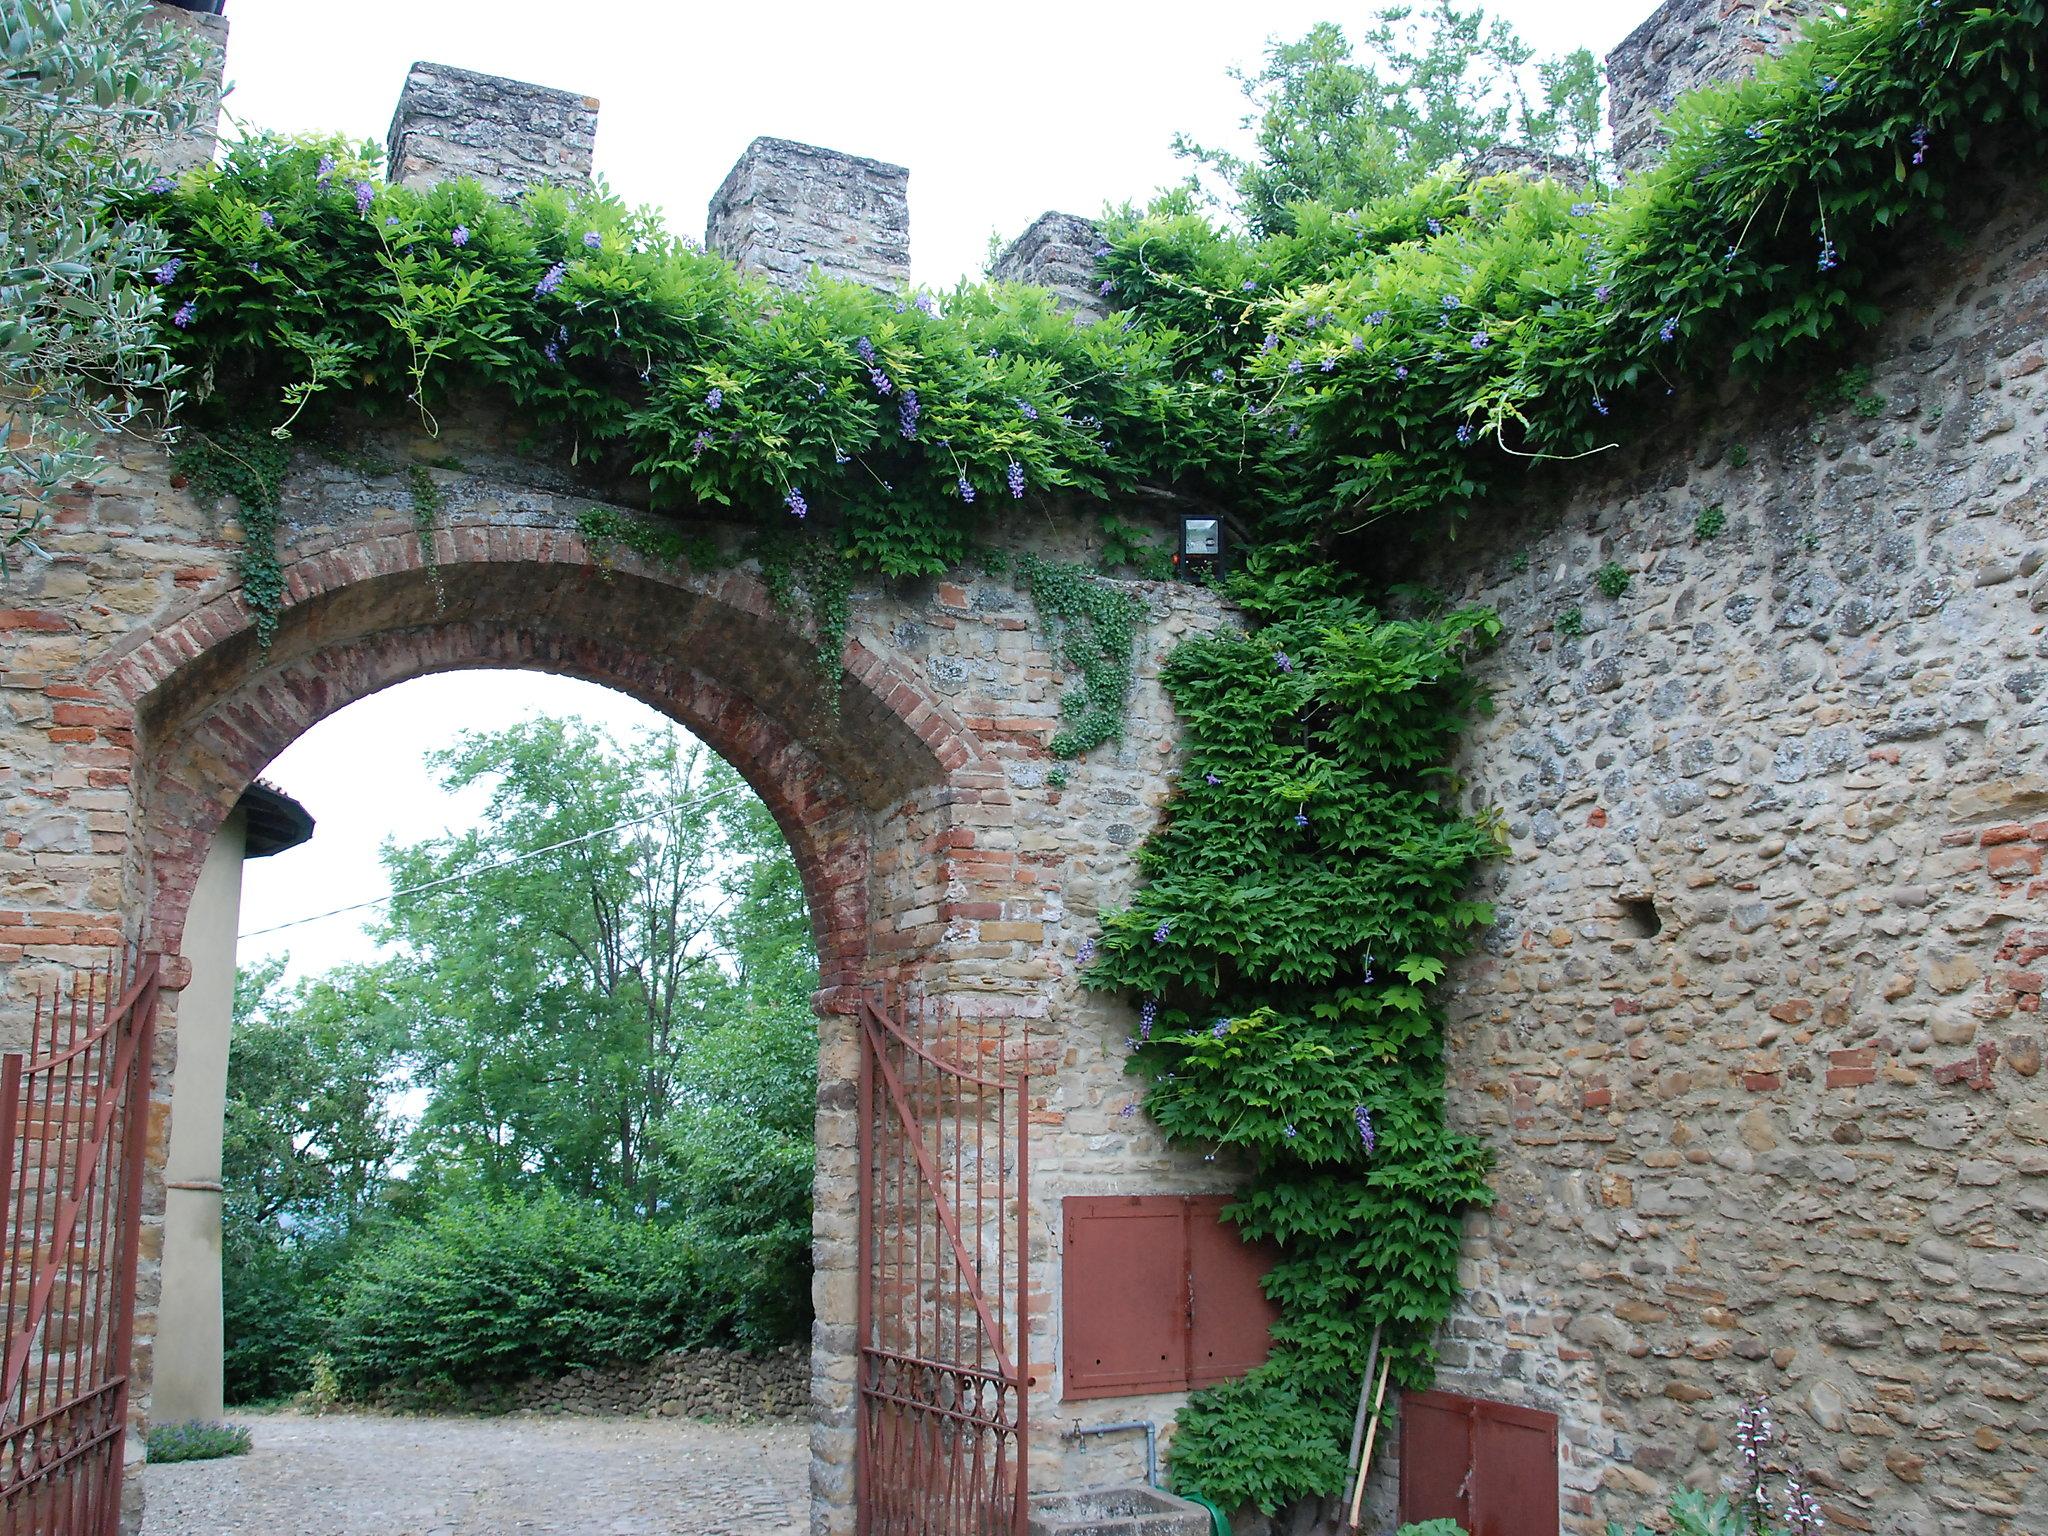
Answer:
[{"label": "left panel of the red double shutters beside the gate", "polygon": [[1188,1217],[1178,1194],[1065,1202],[1061,1372],[1067,1397],[1188,1384]]}]

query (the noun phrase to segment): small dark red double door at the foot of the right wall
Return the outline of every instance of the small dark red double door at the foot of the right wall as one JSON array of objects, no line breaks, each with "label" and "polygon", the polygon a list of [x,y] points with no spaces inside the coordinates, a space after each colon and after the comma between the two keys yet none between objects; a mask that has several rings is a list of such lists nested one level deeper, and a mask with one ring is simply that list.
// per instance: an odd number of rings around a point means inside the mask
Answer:
[{"label": "small dark red double door at the foot of the right wall", "polygon": [[1470,1536],[1559,1536],[1556,1415],[1403,1393],[1401,1520],[1456,1520]]}]

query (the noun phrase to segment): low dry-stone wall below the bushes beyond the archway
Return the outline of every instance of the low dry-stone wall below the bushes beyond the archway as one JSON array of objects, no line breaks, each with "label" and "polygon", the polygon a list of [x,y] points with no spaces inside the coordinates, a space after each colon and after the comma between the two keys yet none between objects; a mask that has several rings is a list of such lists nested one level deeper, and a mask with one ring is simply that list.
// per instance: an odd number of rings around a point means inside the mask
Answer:
[{"label": "low dry-stone wall below the bushes beyond the archway", "polygon": [[532,1413],[635,1413],[662,1419],[797,1419],[811,1405],[807,1350],[674,1350],[639,1366],[590,1366],[512,1389]]}]

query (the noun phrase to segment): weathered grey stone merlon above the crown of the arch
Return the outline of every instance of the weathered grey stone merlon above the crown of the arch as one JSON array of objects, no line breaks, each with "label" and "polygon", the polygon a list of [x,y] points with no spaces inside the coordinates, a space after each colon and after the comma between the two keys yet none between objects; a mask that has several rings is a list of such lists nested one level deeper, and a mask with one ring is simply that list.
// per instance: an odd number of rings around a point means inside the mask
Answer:
[{"label": "weathered grey stone merlon above the crown of the arch", "polygon": [[596,141],[596,96],[416,63],[391,115],[385,178],[432,186],[475,176],[512,203],[530,186],[586,184]]}]

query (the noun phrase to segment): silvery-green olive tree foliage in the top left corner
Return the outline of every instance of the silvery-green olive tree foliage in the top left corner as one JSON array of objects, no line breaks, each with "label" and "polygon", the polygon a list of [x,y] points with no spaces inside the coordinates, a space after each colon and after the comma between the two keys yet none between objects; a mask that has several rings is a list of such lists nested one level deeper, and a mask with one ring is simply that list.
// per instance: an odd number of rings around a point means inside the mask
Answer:
[{"label": "silvery-green olive tree foliage in the top left corner", "polygon": [[[176,406],[152,152],[219,102],[145,0],[0,0],[0,565],[94,436]],[[168,188],[168,182],[162,182]]]}]

